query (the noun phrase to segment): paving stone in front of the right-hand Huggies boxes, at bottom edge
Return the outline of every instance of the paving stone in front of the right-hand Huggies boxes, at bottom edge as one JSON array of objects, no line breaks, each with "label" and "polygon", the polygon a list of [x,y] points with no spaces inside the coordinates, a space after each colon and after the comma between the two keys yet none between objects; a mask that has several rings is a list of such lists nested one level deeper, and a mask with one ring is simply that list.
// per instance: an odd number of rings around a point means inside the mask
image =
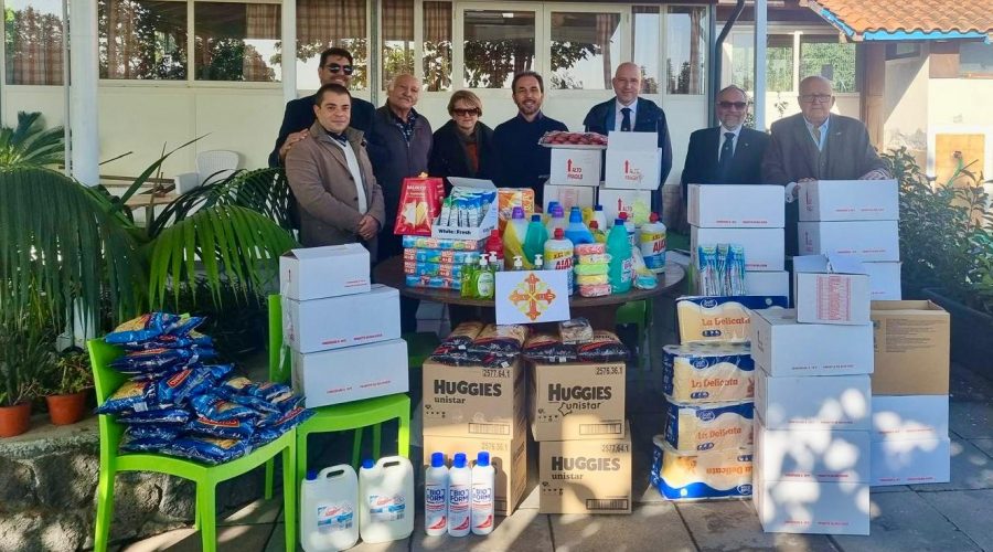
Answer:
[{"label": "paving stone in front of the right-hand Huggies boxes, at bottom edge", "polygon": [[696,550],[675,507],[639,506],[629,516],[549,516],[552,539],[559,552],[602,550],[634,552]]}]

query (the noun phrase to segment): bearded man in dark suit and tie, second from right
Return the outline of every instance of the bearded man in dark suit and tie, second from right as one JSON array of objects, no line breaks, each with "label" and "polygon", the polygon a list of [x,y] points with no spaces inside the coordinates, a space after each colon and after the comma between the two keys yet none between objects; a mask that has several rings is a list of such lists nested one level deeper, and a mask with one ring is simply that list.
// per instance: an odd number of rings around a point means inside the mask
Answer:
[{"label": "bearded man in dark suit and tie, second from right", "polygon": [[690,149],[680,184],[683,204],[686,184],[758,184],[762,182],[762,156],[769,135],[745,128],[748,95],[730,85],[715,103],[719,127],[704,128],[690,135]]}]

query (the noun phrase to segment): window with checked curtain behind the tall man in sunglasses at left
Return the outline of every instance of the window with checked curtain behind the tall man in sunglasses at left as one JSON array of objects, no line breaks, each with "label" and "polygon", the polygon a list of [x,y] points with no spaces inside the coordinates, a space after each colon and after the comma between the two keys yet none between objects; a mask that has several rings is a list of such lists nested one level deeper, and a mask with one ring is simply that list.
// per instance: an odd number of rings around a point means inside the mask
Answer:
[{"label": "window with checked curtain behind the tall man in sunglasses at left", "polygon": [[343,47],[352,54],[353,91],[369,87],[366,0],[297,0],[297,88],[321,87],[321,52]]}]

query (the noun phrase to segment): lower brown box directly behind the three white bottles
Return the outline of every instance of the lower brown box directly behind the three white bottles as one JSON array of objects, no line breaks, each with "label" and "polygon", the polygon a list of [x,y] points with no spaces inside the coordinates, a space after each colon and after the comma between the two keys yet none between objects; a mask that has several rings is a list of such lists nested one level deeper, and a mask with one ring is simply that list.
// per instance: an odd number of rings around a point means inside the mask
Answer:
[{"label": "lower brown box directly behind the three white bottles", "polygon": [[527,489],[527,429],[515,434],[513,439],[425,435],[424,467],[430,465],[431,453],[445,453],[446,460],[451,461],[456,453],[466,453],[474,460],[480,450],[488,450],[496,471],[493,509],[500,516],[510,516]]}]

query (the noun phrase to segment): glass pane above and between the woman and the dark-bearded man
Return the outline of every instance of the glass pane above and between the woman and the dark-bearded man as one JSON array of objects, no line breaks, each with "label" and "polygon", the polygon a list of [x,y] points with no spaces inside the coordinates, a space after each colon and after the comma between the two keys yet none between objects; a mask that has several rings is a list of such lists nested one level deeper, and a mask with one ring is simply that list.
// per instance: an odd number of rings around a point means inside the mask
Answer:
[{"label": "glass pane above and between the woman and the dark-bearded man", "polygon": [[534,67],[533,11],[466,10],[467,88],[510,88],[514,74]]}]

